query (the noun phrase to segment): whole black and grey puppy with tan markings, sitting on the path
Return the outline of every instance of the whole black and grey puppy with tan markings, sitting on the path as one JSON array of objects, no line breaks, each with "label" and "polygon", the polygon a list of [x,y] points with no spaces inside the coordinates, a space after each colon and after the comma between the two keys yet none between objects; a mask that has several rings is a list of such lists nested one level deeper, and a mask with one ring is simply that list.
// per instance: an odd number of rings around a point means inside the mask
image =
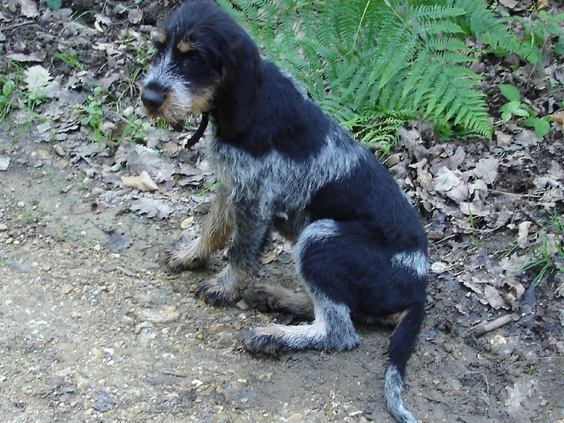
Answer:
[{"label": "whole black and grey puppy with tan markings, sitting on the path", "polygon": [[353,320],[399,314],[385,391],[399,422],[415,422],[400,393],[424,317],[427,236],[386,168],[314,104],[288,73],[259,56],[213,1],[188,1],[168,20],[143,84],[148,116],[176,123],[205,114],[207,154],[220,186],[200,238],[169,257],[195,269],[227,244],[228,264],[200,286],[214,305],[240,298],[271,231],[295,242],[307,295],[263,287],[274,309],[312,324],[271,325],[243,341],[251,353],[351,350]]}]

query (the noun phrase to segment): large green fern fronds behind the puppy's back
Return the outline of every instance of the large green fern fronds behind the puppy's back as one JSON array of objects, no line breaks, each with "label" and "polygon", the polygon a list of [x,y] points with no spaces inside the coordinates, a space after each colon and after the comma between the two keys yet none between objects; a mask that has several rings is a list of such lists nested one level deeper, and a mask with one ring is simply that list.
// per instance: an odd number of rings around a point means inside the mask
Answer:
[{"label": "large green fern fronds behind the puppy's back", "polygon": [[480,51],[465,39],[526,50],[484,0],[218,2],[315,102],[355,128],[376,128],[369,114],[386,111],[491,137],[481,79],[467,68]]}]

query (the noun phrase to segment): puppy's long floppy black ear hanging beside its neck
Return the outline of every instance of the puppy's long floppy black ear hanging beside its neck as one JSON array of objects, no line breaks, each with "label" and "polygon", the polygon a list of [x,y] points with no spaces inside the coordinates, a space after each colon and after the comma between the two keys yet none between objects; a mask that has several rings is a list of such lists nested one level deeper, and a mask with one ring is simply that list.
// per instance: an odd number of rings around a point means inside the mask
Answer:
[{"label": "puppy's long floppy black ear hanging beside its neck", "polygon": [[237,37],[223,55],[216,96],[219,136],[231,140],[255,121],[262,104],[262,66],[259,51],[246,34]]}]

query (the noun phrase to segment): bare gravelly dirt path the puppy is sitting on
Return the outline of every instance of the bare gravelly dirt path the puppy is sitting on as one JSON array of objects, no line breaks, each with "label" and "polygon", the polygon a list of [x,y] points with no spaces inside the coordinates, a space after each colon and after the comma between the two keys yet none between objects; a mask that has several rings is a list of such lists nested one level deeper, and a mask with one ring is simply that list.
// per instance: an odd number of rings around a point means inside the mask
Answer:
[{"label": "bare gravelly dirt path the puppy is sitting on", "polygon": [[[159,262],[180,222],[102,207],[107,185],[42,147],[0,139],[15,163],[0,182],[1,419],[391,422],[387,329],[360,328],[362,344],[351,353],[245,354],[242,333],[288,318],[195,300],[195,283],[214,269],[171,275]],[[121,250],[109,248],[116,243]],[[293,277],[281,251],[255,279],[288,285]],[[562,356],[539,355],[518,333],[493,332],[473,348],[450,316],[465,294],[458,282],[431,279],[407,373],[410,409],[424,422],[562,419]]]}]

